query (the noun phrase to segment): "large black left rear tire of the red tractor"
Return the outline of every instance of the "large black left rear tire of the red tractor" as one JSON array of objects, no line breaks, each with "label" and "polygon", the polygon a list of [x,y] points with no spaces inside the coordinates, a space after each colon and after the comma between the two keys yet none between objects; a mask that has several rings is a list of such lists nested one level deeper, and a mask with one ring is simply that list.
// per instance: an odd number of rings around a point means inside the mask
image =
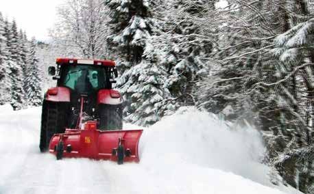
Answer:
[{"label": "large black left rear tire of the red tractor", "polygon": [[40,127],[40,152],[49,148],[51,137],[56,133],[64,133],[67,127],[69,102],[49,102],[44,100]]}]

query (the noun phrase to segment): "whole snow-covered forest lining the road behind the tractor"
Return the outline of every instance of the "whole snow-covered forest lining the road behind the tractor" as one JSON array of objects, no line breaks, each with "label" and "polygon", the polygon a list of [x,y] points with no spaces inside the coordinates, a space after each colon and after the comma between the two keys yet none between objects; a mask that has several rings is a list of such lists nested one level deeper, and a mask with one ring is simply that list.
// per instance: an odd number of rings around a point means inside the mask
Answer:
[{"label": "whole snow-covered forest lining the road behind the tractor", "polygon": [[112,59],[125,122],[193,106],[250,124],[272,182],[314,193],[313,1],[64,0],[50,36],[28,40],[0,16],[1,105],[40,106],[56,57]]}]

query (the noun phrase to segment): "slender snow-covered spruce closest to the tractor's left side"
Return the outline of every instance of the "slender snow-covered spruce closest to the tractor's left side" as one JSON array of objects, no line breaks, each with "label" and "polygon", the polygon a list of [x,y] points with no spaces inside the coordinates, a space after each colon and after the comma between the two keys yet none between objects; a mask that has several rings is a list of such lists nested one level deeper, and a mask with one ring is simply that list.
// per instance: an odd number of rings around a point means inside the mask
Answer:
[{"label": "slender snow-covered spruce closest to the tractor's left side", "polygon": [[42,103],[41,94],[41,79],[40,79],[40,66],[38,64],[38,57],[36,56],[36,40],[32,38],[30,42],[29,64],[27,66],[27,88],[26,96],[29,106],[40,106]]}]

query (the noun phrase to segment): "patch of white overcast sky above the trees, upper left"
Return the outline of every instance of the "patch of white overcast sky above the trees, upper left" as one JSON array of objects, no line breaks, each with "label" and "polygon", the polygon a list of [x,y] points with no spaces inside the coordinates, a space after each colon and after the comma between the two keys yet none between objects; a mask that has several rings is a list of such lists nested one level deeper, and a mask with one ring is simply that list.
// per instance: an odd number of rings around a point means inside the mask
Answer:
[{"label": "patch of white overcast sky above the trees, upper left", "polygon": [[48,29],[56,21],[56,7],[63,0],[0,0],[0,12],[19,29],[26,31],[28,38],[48,39]]}]

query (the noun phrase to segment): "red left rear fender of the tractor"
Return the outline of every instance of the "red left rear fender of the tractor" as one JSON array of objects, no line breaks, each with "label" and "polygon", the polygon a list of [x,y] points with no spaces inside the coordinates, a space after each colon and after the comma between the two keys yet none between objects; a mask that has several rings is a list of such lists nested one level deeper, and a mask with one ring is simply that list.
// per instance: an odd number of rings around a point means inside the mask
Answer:
[{"label": "red left rear fender of the tractor", "polygon": [[45,100],[51,102],[70,102],[71,92],[67,87],[51,87],[45,94]]}]

